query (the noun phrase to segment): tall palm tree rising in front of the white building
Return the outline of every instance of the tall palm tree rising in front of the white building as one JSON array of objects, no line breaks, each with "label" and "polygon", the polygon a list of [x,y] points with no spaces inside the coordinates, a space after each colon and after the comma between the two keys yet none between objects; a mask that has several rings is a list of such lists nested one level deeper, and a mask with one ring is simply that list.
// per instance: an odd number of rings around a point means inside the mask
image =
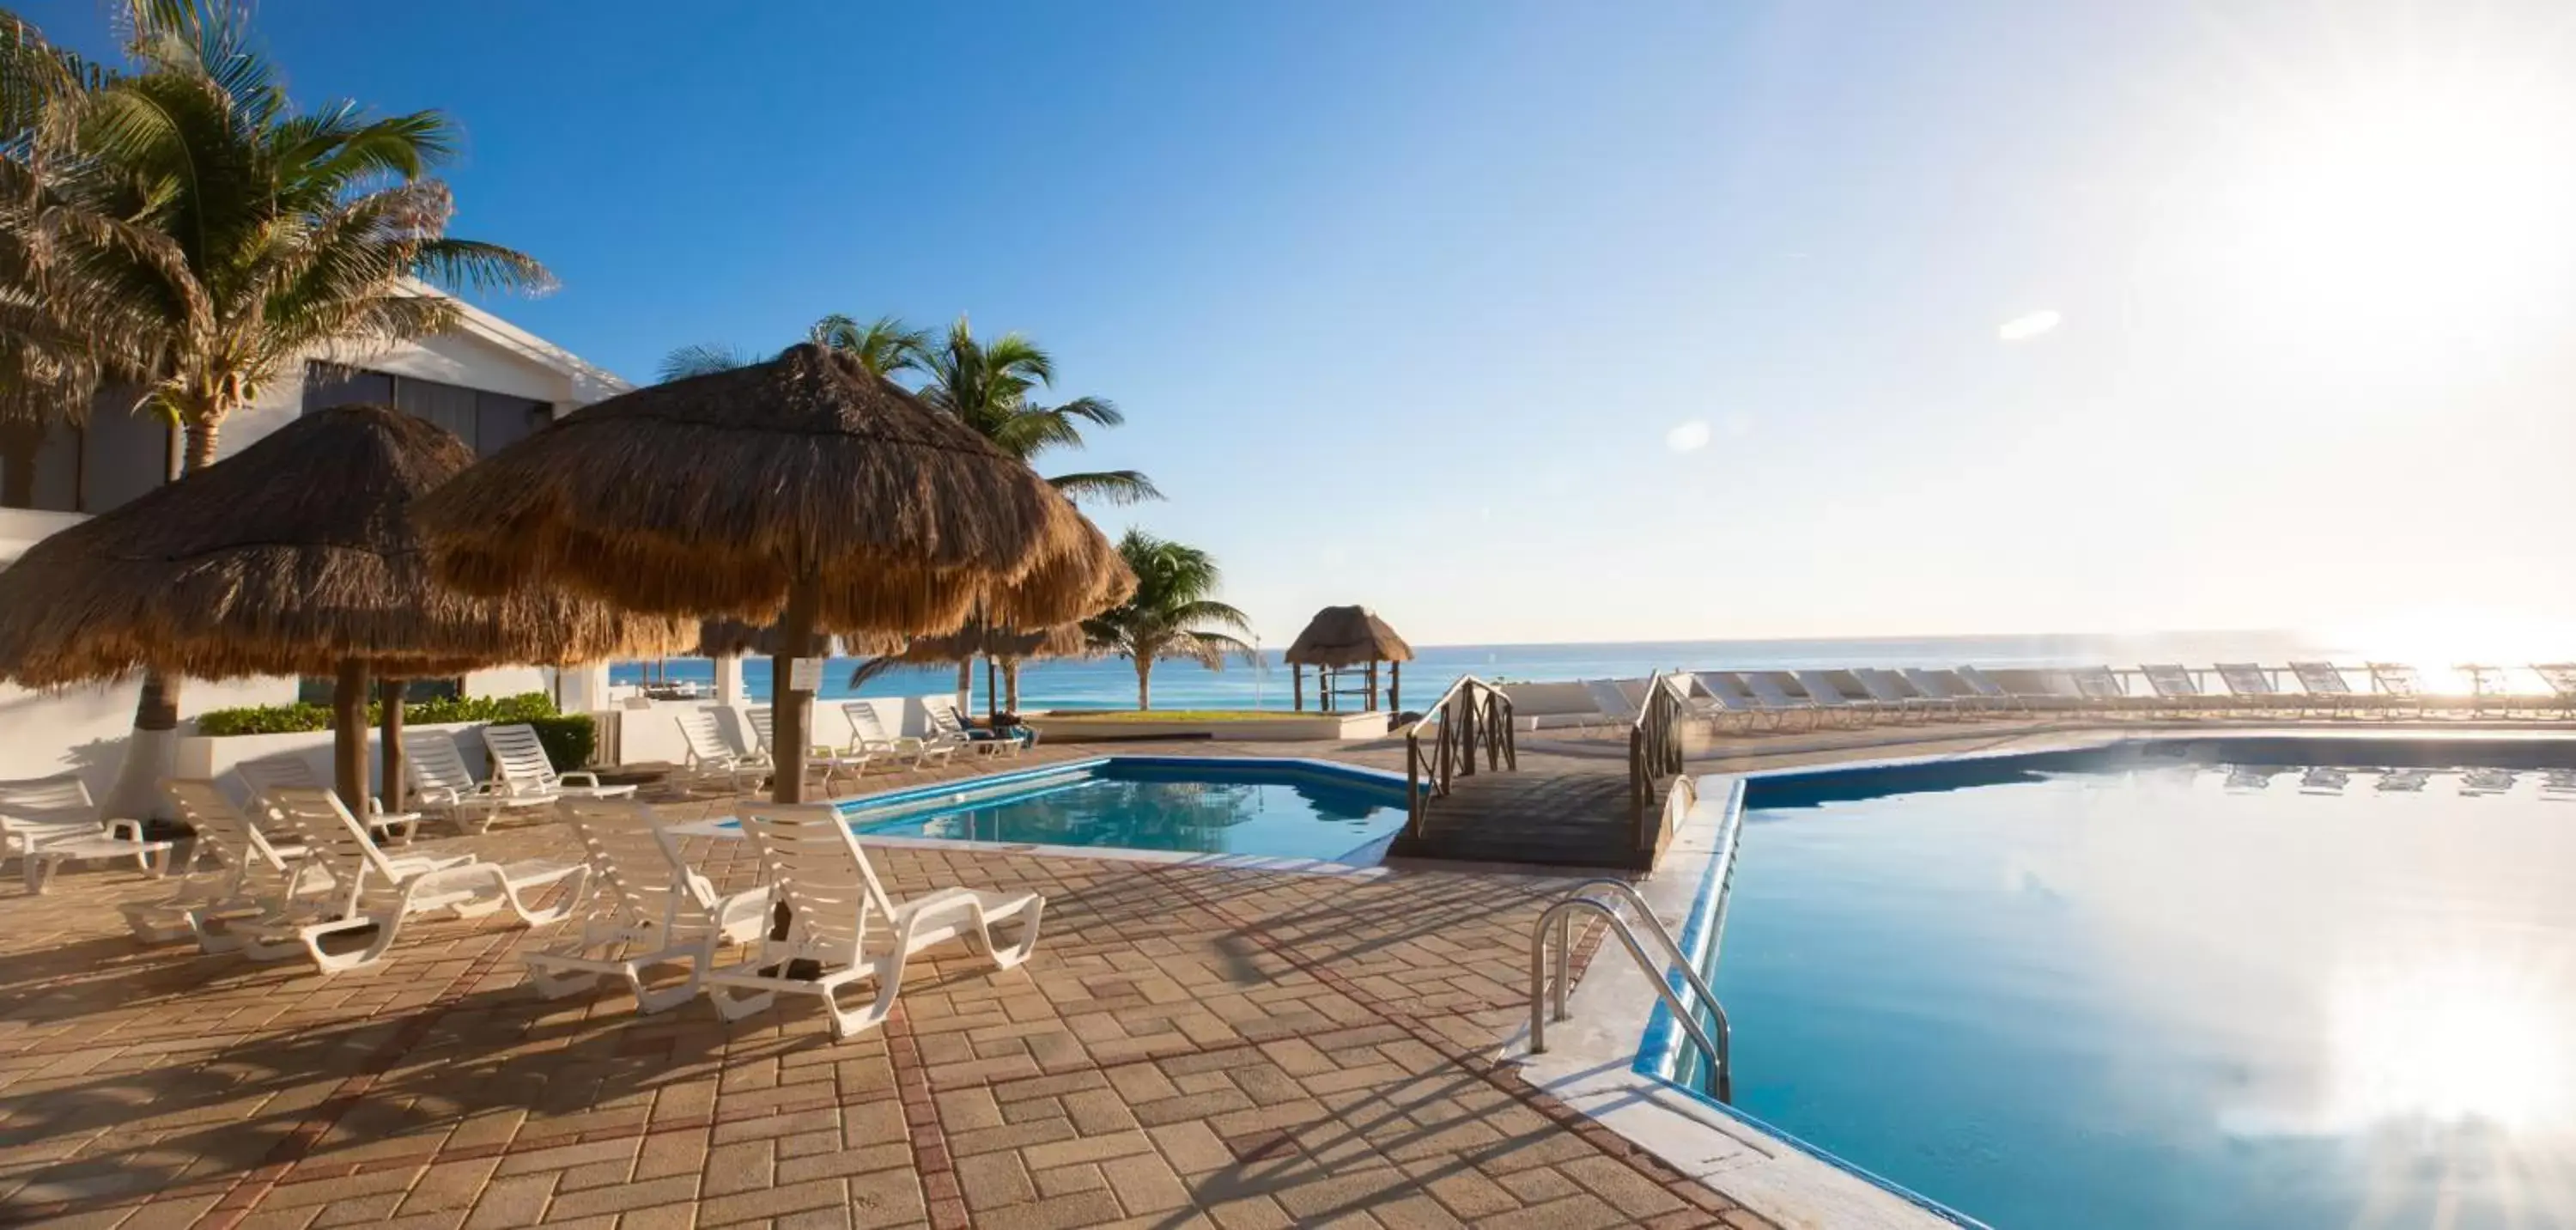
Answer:
[{"label": "tall palm tree rising in front of the white building", "polygon": [[[129,0],[124,23],[129,72],[72,101],[31,229],[137,325],[137,405],[180,428],[183,474],[289,364],[453,327],[456,302],[415,278],[551,289],[533,258],[446,235],[443,113],[296,111],[229,0]],[[111,807],[152,807],[175,727],[175,681],[144,676]]]}]

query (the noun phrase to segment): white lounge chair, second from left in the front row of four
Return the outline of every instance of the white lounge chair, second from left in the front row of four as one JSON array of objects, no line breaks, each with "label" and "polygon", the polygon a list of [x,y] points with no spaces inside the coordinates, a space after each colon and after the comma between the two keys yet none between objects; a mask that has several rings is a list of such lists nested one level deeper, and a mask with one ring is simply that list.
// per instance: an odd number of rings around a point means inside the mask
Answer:
[{"label": "white lounge chair, second from left in the front row of four", "polygon": [[[327,789],[278,789],[270,807],[304,841],[304,859],[330,877],[330,892],[289,897],[276,913],[250,923],[242,954],[258,962],[301,954],[325,975],[376,964],[392,952],[407,918],[433,910],[477,918],[507,905],[526,926],[554,923],[580,905],[587,879],[585,864],[489,864],[471,854],[389,859]],[[531,895],[554,884],[567,887],[564,905],[528,905]],[[368,928],[376,933],[358,949],[322,946],[325,939]]]}]

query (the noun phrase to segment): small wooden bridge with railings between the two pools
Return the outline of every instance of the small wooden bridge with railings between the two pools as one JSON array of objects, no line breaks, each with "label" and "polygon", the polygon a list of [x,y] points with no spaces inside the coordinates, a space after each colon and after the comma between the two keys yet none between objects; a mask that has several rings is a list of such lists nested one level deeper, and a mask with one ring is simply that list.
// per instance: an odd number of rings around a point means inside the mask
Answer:
[{"label": "small wooden bridge with railings between the two pools", "polygon": [[1628,758],[1522,768],[1512,699],[1461,678],[1406,735],[1412,815],[1399,859],[1651,869],[1682,771],[1680,691],[1662,676],[1628,730]]}]

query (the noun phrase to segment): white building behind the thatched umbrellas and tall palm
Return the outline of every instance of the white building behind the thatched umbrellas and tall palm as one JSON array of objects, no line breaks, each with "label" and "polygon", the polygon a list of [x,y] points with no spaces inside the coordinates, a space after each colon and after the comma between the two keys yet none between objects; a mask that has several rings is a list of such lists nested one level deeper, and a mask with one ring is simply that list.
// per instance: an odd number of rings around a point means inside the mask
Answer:
[{"label": "white building behind the thatched umbrellas and tall palm", "polygon": [[[250,407],[224,420],[219,456],[250,446],[296,415],[348,402],[410,410],[489,454],[528,436],[554,415],[626,392],[626,382],[590,366],[471,304],[464,322],[440,338],[402,343],[343,361],[312,358],[289,371]],[[178,431],[152,413],[134,413],[131,397],[100,397],[88,425],[57,425],[33,456],[23,451],[0,482],[0,565],[28,544],[93,513],[116,508],[178,469]],[[26,441],[13,441],[26,449]],[[28,464],[31,462],[31,464]],[[64,691],[26,691],[0,683],[0,779],[80,774],[106,797],[124,761],[134,722],[137,681]],[[544,670],[484,670],[464,681],[466,694],[505,696],[556,691],[572,709],[603,701],[605,668],[554,681]],[[180,732],[206,709],[286,704],[294,678],[188,681],[180,688]]]}]

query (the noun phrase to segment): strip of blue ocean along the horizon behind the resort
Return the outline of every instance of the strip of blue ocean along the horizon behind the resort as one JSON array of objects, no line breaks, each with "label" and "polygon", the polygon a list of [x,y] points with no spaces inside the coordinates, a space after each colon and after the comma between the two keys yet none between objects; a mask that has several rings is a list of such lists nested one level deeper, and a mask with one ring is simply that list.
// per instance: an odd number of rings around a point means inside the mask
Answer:
[{"label": "strip of blue ocean along the horizon behind the resort", "polygon": [[[2156,632],[2156,634],[2022,634],[2022,637],[1860,637],[1860,639],[1672,639],[1602,645],[1425,645],[1404,663],[1404,707],[1437,699],[1458,676],[1486,681],[1566,681],[1636,678],[1654,670],[1803,670],[1844,665],[2136,665],[2136,663],[2264,663],[2326,658],[2360,663],[2354,647],[2318,645],[2293,632]],[[853,658],[835,658],[824,670],[824,699],[840,696],[920,696],[948,691],[953,665],[896,668],[850,688]],[[2447,663],[2424,663],[2439,668]],[[706,658],[670,658],[654,670],[672,681],[714,683]],[[742,663],[744,688],[755,701],[770,696],[770,660]],[[613,683],[636,683],[644,663],[618,663]],[[2434,681],[2434,678],[2429,678]],[[1314,676],[1306,683],[1314,707]],[[976,709],[984,707],[984,670],[974,676]],[[1023,709],[1133,709],[1136,668],[1126,660],[1048,660],[1020,668]],[[1157,709],[1288,709],[1288,668],[1278,650],[1260,663],[1229,660],[1224,670],[1195,663],[1154,665]]]}]

